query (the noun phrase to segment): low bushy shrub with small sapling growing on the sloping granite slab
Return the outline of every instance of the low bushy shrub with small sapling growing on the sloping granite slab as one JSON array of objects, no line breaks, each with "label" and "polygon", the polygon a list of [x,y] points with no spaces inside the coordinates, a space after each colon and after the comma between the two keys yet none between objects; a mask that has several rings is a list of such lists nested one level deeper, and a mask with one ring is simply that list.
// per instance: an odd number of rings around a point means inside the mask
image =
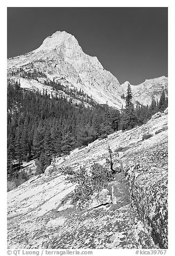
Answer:
[{"label": "low bushy shrub with small sapling growing on the sloping granite slab", "polygon": [[108,145],[107,151],[109,157],[106,158],[104,165],[93,163],[90,168],[81,166],[78,170],[71,167],[60,167],[58,169],[62,174],[67,175],[66,180],[68,182],[77,183],[75,191],[68,196],[73,198],[74,202],[84,203],[89,201],[95,192],[99,193],[104,187],[107,187],[108,183],[114,179],[114,175],[121,172],[122,165],[119,158],[115,159],[115,162],[119,162],[120,167],[113,168],[114,155],[110,145]]}]

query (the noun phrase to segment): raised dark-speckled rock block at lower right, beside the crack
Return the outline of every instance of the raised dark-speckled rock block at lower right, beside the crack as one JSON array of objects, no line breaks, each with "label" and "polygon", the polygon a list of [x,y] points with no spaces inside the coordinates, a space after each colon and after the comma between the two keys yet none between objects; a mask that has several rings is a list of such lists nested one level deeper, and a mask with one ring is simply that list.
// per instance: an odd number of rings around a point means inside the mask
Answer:
[{"label": "raised dark-speckled rock block at lower right, beside the crack", "polygon": [[123,155],[132,205],[159,248],[167,248],[167,130]]}]

